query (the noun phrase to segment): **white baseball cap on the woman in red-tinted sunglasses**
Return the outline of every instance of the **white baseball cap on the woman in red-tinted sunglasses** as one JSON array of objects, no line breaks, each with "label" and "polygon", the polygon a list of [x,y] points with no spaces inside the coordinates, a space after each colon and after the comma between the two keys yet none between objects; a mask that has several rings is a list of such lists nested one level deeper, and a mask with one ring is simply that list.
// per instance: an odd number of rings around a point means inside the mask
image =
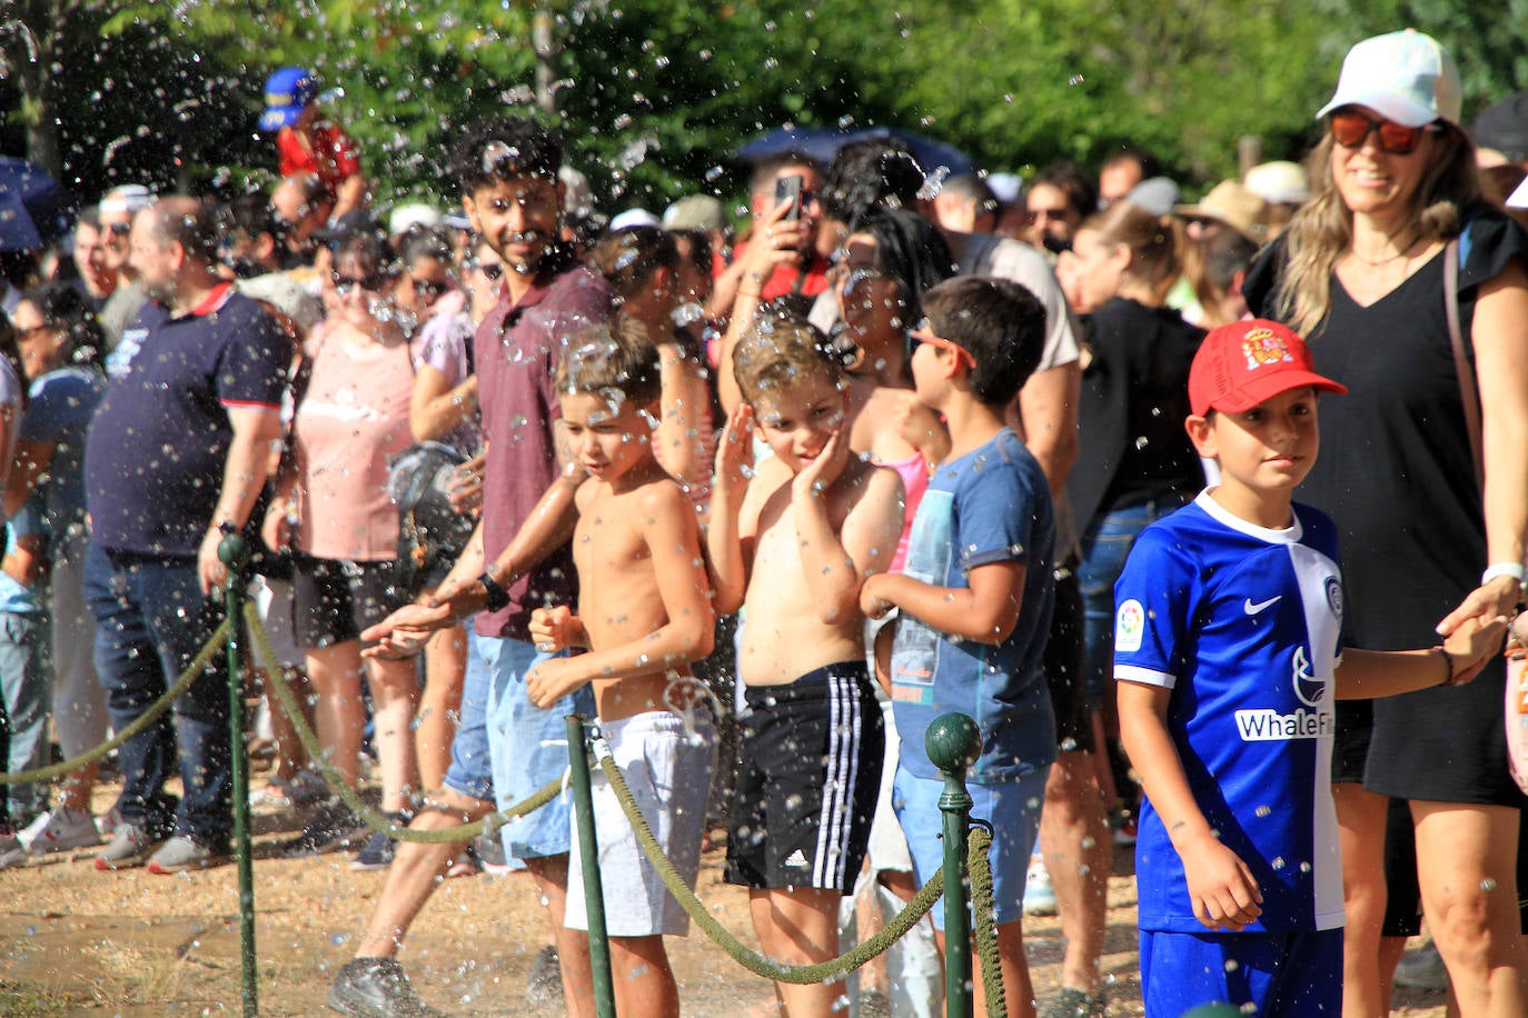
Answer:
[{"label": "white baseball cap on the woman in red-tinted sunglasses", "polygon": [[1337,95],[1316,119],[1345,105],[1365,105],[1401,127],[1459,122],[1459,69],[1449,50],[1416,29],[1366,38],[1342,61]]}]

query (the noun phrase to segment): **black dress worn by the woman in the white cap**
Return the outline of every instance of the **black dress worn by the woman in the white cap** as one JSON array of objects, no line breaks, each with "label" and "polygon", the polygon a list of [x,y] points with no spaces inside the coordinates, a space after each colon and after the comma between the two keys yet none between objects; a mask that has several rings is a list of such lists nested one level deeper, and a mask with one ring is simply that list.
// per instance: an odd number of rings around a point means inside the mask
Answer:
[{"label": "black dress worn by the woman in the white cap", "polygon": [[[1482,209],[1470,217],[1459,250],[1459,317],[1468,337],[1481,284],[1510,259],[1528,259],[1528,237],[1505,215]],[[1284,249],[1274,244],[1248,278],[1256,314],[1280,317],[1271,305],[1282,261]],[[1320,455],[1296,498],[1337,522],[1351,647],[1436,644],[1433,627],[1478,586],[1487,565],[1442,270],[1439,252],[1369,307],[1355,304],[1334,276],[1331,314],[1309,336],[1316,371],[1349,392],[1322,398]],[[1473,359],[1468,342],[1467,353]],[[1343,780],[1343,766],[1358,763],[1372,704],[1366,788],[1397,798],[1520,807],[1525,800],[1507,766],[1504,693],[1497,658],[1464,687],[1339,702],[1335,777]]]}]

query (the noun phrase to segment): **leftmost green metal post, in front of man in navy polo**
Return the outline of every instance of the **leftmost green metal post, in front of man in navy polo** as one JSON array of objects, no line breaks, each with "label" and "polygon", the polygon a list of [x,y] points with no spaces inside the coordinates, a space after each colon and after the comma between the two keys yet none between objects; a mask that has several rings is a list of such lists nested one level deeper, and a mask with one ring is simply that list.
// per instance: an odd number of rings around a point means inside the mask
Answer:
[{"label": "leftmost green metal post, in front of man in navy polo", "polygon": [[[255,969],[255,873],[249,852],[249,757],[244,752],[244,688],[240,638],[244,632],[244,563],[248,542],[229,523],[217,557],[228,566],[223,595],[228,609],[228,736],[234,771],[234,858],[238,865],[238,960],[244,1015],[260,1013],[260,975]],[[280,681],[280,676],[275,676]]]}]

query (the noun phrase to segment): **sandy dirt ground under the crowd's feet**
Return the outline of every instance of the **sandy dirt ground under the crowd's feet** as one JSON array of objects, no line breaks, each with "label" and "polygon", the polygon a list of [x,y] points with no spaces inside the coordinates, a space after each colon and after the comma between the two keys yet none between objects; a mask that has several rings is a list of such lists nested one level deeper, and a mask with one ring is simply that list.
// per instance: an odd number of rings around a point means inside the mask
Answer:
[{"label": "sandy dirt ground under the crowd's feet", "polygon": [[[258,781],[258,774],[252,781]],[[98,794],[105,810],[116,789]],[[287,861],[272,844],[301,829],[301,817],[255,818],[255,946],[263,1015],[324,1015],[335,972],[351,955],[380,893],[384,873],[356,873],[350,856]],[[1129,850],[1123,850],[1128,868]],[[228,865],[206,873],[98,873],[83,852],[0,871],[0,1015],[241,1013],[238,878]],[[706,853],[698,884],[712,913],[756,946],[746,893],[721,884],[721,852]],[[1120,871],[1120,870],[1117,870]],[[1025,920],[1036,991],[1057,987],[1063,940],[1056,919]],[[536,954],[549,943],[545,913],[524,875],[446,881],[416,923],[402,955],[420,995],[458,1015],[559,1015],[559,1004],[527,1000]],[[669,955],[685,1012],[700,1018],[761,1018],[773,1012],[770,984],[740,968],[698,929],[671,939]],[[1140,1015],[1135,884],[1109,882],[1103,969],[1111,1015]],[[1441,994],[1397,997],[1400,1015],[1442,1015]]]}]

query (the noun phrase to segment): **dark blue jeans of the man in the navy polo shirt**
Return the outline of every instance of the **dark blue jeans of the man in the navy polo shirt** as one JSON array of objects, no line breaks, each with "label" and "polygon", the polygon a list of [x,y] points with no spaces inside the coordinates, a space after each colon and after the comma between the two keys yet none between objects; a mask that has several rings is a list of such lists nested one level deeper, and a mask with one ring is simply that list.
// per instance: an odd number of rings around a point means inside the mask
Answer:
[{"label": "dark blue jeans of the man in the navy polo shirt", "polygon": [[[136,720],[191,664],[223,618],[202,594],[186,559],[107,552],[90,545],[86,600],[96,620],[95,665],[112,728]],[[179,751],[179,752],[177,752]],[[165,794],[179,755],[183,797]],[[219,652],[170,713],[122,743],[124,820],[165,835],[193,835],[214,850],[228,846],[232,772],[228,734],[228,658]]]}]

